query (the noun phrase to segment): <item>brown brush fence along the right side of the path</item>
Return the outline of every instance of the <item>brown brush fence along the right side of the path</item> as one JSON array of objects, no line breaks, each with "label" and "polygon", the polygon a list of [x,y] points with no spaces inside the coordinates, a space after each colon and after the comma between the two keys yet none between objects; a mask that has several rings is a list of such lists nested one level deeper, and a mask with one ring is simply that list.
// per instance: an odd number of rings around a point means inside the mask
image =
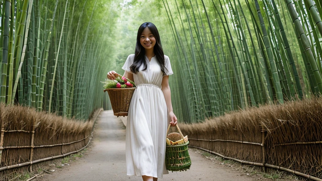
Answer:
[{"label": "brown brush fence along the right side of the path", "polygon": [[251,108],[180,128],[192,147],[322,181],[321,98]]}]

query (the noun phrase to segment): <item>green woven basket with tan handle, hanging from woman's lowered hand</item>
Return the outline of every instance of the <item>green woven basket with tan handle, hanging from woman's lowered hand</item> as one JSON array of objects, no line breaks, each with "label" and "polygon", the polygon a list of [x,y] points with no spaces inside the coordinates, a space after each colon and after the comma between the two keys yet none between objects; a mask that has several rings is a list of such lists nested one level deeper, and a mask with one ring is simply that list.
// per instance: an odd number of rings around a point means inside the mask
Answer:
[{"label": "green woven basket with tan handle, hanging from woman's lowered hand", "polygon": [[[182,139],[184,139],[183,134],[181,133],[181,130],[179,129],[178,125],[176,125]],[[168,130],[166,131],[166,134],[168,135],[170,129],[170,125],[168,127]],[[190,168],[191,165],[191,159],[188,152],[188,144],[189,141],[187,141],[184,144],[181,145],[171,145],[166,146],[166,169],[169,171],[186,171]]]}]

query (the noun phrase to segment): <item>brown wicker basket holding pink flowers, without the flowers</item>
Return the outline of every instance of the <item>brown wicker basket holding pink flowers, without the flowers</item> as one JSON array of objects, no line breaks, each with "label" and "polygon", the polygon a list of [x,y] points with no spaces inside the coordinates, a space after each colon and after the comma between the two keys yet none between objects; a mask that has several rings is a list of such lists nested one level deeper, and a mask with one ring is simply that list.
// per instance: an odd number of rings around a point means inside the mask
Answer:
[{"label": "brown wicker basket holding pink flowers, without the flowers", "polygon": [[132,99],[133,92],[136,88],[123,88],[123,89],[104,89],[104,92],[109,93],[113,113],[115,116],[127,116],[128,107]]}]

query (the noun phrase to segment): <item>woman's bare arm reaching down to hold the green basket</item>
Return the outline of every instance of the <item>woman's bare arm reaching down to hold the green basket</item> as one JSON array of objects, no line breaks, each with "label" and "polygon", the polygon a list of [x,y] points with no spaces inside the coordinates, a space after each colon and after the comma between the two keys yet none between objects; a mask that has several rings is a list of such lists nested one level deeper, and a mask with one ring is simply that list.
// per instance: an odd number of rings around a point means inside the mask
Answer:
[{"label": "woman's bare arm reaching down to hold the green basket", "polygon": [[161,90],[163,92],[164,98],[166,99],[166,107],[168,108],[168,113],[171,119],[171,126],[175,126],[177,124],[177,117],[173,113],[172,102],[171,102],[171,90],[169,86],[169,76],[163,76],[161,83]]}]

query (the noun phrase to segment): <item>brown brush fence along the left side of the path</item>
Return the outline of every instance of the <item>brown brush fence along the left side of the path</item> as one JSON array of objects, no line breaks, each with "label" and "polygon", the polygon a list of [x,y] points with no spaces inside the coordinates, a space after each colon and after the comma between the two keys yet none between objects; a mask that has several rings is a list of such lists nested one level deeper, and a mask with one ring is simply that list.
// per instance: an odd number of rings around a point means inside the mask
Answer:
[{"label": "brown brush fence along the left side of the path", "polygon": [[1,104],[0,178],[12,172],[32,171],[35,164],[85,148],[100,110],[83,122]]}]

